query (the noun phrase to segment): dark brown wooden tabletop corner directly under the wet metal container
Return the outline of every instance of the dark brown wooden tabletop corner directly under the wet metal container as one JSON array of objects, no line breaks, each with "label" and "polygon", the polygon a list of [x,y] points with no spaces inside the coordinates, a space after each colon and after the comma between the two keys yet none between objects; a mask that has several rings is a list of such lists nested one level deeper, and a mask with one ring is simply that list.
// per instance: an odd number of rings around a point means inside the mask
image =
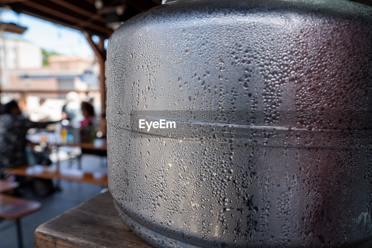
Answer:
[{"label": "dark brown wooden tabletop corner directly under the wet metal container", "polygon": [[111,194],[107,191],[39,226],[35,231],[35,247],[152,246],[125,225],[116,212]]}]

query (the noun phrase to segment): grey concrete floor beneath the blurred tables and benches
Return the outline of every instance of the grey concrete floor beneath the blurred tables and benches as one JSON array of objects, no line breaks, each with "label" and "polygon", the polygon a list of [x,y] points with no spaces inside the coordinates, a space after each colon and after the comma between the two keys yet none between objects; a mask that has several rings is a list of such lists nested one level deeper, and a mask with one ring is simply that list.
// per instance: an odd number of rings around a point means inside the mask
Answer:
[{"label": "grey concrete floor beneath the blurred tables and benches", "polygon": [[[62,157],[63,154],[62,154]],[[107,173],[106,160],[102,166],[102,158],[95,155],[83,155],[82,169],[84,171],[101,171]],[[53,166],[53,165],[52,165]],[[61,168],[67,167],[67,160],[61,161]],[[73,164],[73,168],[77,168],[77,164]],[[54,181],[55,183],[55,181]],[[102,186],[61,181],[60,187],[62,191],[55,192],[51,196],[36,197],[29,189],[20,189],[22,197],[30,200],[36,200],[42,203],[42,209],[25,216],[21,219],[23,245],[24,248],[32,248],[33,232],[42,223],[54,218],[57,215],[65,212],[68,209],[85,202],[86,200],[96,196],[104,188]],[[0,220],[0,248],[17,248],[17,233],[15,222]]]}]

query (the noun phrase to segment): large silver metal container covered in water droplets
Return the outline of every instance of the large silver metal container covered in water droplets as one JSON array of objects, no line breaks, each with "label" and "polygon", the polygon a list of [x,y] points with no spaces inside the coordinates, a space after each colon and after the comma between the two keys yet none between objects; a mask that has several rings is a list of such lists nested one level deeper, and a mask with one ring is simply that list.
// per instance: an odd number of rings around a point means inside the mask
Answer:
[{"label": "large silver metal container covered in water droplets", "polygon": [[121,25],[107,63],[109,189],[143,239],[371,247],[371,7],[170,2]]}]

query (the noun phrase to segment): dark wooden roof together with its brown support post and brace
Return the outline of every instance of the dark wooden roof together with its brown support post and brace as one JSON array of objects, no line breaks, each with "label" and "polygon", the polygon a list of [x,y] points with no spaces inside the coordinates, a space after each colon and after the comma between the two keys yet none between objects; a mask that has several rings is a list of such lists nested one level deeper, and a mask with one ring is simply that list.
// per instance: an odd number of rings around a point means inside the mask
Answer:
[{"label": "dark wooden roof together with its brown support post and brace", "polygon": [[[100,61],[102,109],[106,112],[104,40],[121,22],[161,4],[161,0],[0,0],[0,7],[80,30]],[[99,36],[95,44],[92,36]]]}]

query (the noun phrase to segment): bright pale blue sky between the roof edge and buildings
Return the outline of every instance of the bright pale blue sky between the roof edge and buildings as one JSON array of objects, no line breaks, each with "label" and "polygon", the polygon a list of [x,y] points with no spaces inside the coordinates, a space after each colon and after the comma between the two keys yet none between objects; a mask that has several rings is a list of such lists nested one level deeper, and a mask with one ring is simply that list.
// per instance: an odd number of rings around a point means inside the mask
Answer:
[{"label": "bright pale blue sky between the roof edge and buildings", "polygon": [[84,35],[78,30],[24,14],[17,15],[12,10],[2,11],[1,21],[13,22],[27,28],[22,35],[6,32],[7,38],[23,39],[47,51],[55,51],[63,55],[83,57],[94,55]]}]

